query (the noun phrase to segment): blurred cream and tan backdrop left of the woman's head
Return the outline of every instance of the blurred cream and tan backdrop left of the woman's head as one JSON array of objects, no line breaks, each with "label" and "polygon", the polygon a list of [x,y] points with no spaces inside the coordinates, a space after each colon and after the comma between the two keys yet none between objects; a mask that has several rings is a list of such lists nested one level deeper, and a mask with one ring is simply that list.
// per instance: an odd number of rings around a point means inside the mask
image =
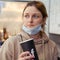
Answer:
[{"label": "blurred cream and tan backdrop left of the woman's head", "polygon": [[0,30],[6,28],[9,35],[20,31],[22,11],[26,2],[0,2]]}]

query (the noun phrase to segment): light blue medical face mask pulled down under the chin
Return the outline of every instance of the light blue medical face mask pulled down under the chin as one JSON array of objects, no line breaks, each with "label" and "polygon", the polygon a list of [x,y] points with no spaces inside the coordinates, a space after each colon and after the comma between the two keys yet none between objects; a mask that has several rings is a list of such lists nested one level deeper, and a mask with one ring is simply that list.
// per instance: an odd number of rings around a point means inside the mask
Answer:
[{"label": "light blue medical face mask pulled down under the chin", "polygon": [[37,25],[33,28],[27,28],[26,26],[22,26],[22,29],[28,33],[29,35],[34,35],[34,34],[37,34],[39,31],[41,31],[41,25]]}]

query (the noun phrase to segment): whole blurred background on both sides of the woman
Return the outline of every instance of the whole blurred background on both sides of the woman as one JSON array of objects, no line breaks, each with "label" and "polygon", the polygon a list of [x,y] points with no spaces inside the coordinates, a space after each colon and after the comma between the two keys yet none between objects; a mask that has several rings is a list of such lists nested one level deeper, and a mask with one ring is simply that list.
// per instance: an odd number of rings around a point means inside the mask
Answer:
[{"label": "whole blurred background on both sides of the woman", "polygon": [[[34,0],[0,0],[0,32],[7,38],[20,32],[22,11],[28,1]],[[60,0],[42,1],[48,13],[45,32],[56,42],[60,57]],[[7,39],[6,38],[6,39]]]}]

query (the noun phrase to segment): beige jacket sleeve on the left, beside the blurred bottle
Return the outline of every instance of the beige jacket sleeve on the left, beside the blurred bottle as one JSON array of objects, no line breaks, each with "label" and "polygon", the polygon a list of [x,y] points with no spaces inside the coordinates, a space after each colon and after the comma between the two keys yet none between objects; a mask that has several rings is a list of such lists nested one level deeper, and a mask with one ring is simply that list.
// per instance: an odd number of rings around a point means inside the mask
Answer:
[{"label": "beige jacket sleeve on the left, beside the blurred bottle", "polygon": [[14,60],[13,47],[11,38],[7,39],[0,48],[0,60]]}]

